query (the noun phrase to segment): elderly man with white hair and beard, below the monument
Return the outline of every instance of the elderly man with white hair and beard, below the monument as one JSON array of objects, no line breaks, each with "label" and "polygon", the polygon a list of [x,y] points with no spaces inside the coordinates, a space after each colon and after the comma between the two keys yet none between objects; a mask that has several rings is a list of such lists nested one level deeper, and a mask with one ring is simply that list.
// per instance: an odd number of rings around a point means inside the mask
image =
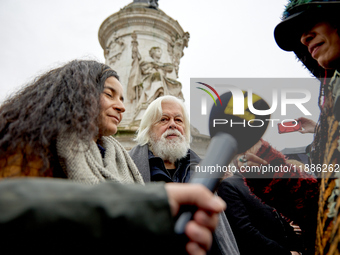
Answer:
[{"label": "elderly man with white hair and beard, below the monument", "polygon": [[[190,169],[201,160],[190,149],[190,123],[181,100],[162,96],[146,109],[137,136],[138,143],[130,156],[143,176],[144,182],[188,182]],[[208,254],[239,254],[234,235],[224,213],[213,234]]]}]

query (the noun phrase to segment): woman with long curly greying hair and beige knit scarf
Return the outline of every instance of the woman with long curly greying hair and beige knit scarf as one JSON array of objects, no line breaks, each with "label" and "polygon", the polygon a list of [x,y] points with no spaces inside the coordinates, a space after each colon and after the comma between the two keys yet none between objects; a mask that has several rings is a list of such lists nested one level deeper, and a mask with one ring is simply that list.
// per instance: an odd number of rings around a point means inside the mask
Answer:
[{"label": "woman with long curly greying hair and beige knit scarf", "polygon": [[109,66],[74,60],[36,78],[0,107],[0,177],[143,183],[111,136],[125,111]]}]

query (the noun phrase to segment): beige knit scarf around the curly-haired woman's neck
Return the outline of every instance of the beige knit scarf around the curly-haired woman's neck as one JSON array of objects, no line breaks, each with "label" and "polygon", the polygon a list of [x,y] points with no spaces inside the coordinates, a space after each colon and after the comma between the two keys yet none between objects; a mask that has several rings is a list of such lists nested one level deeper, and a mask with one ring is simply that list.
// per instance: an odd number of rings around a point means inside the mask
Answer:
[{"label": "beige knit scarf around the curly-haired woman's neck", "polygon": [[124,147],[113,137],[100,138],[106,149],[102,158],[97,144],[76,139],[75,134],[59,135],[57,153],[68,179],[96,184],[104,180],[144,184],[142,175]]}]

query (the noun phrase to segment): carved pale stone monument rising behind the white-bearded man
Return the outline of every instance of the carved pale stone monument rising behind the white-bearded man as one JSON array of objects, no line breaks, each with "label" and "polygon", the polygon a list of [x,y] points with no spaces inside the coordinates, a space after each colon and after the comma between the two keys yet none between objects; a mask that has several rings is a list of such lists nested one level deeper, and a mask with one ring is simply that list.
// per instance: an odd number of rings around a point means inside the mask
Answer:
[{"label": "carved pale stone monument rising behind the white-bearded man", "polygon": [[134,0],[101,24],[99,42],[106,64],[124,89],[126,112],[116,138],[129,150],[147,106],[157,97],[183,98],[177,80],[189,33],[158,7],[157,0]]}]

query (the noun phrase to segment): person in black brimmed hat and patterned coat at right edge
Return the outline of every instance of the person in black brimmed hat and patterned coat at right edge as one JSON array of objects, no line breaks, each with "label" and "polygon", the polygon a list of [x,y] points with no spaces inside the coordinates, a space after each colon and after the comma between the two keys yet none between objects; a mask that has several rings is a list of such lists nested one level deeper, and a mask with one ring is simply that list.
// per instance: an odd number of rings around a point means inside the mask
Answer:
[{"label": "person in black brimmed hat and patterned coat at right edge", "polygon": [[[274,36],[320,80],[320,117],[311,155],[321,172],[315,254],[339,254],[340,1],[290,0]],[[311,222],[312,224],[312,222]]]}]

